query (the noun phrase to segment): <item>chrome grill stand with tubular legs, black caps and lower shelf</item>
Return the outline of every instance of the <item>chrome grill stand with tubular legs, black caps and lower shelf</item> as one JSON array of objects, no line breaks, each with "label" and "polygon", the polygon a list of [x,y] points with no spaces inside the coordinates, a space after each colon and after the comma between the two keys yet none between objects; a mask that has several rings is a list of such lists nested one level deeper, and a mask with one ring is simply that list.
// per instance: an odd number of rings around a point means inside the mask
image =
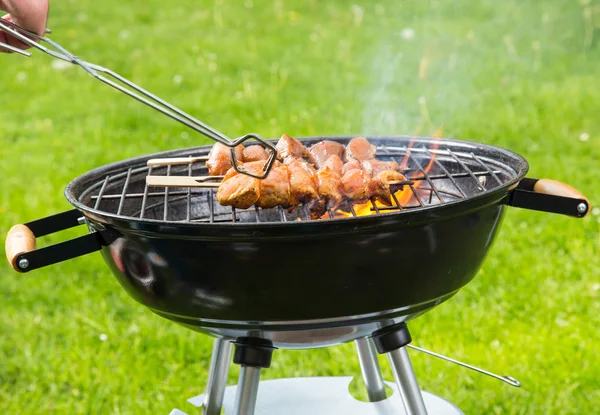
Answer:
[{"label": "chrome grill stand with tubular legs, black caps and lower shelf", "polygon": [[[355,341],[369,397],[369,402],[361,402],[349,393],[351,377],[287,378],[261,382],[261,371],[270,367],[275,350],[271,343],[255,338],[238,338],[233,342],[217,338],[213,346],[206,393],[188,402],[202,407],[203,415],[220,415],[223,410],[225,415],[464,415],[452,403],[421,391],[407,348],[468,367],[512,386],[520,386],[519,381],[510,376],[495,375],[411,346],[411,340],[406,325],[400,323]],[[241,365],[241,370],[238,384],[226,386],[232,344],[235,346],[233,362]],[[387,356],[395,384],[383,380],[378,353]],[[389,397],[386,396],[386,385],[393,390]],[[186,413],[174,409],[170,415]]]}]

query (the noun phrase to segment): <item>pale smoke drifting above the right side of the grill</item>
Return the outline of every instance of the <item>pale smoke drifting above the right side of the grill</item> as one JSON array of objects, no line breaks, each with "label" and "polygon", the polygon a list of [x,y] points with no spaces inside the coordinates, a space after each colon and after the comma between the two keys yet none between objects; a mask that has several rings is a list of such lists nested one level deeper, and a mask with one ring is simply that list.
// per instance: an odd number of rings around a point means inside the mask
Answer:
[{"label": "pale smoke drifting above the right side of the grill", "polygon": [[363,98],[364,134],[439,134],[467,113],[476,97],[473,77],[481,70],[467,64],[477,60],[465,53],[469,36],[405,28],[373,49]]}]

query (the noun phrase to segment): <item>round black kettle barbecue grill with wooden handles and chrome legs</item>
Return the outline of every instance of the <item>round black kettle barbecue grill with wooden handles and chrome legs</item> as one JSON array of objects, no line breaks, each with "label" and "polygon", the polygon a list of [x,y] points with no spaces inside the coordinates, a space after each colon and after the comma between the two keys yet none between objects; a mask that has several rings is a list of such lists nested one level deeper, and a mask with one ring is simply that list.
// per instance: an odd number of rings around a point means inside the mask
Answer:
[{"label": "round black kettle barbecue grill with wooden handles and chrome legs", "polygon": [[[97,75],[99,67],[59,50],[59,58]],[[175,119],[194,120],[172,106],[161,110],[168,111],[179,114]],[[301,141],[347,144],[350,138]],[[233,143],[252,139],[275,151],[273,140],[254,134],[225,141],[233,149]],[[206,181],[203,160],[211,147],[201,146],[120,161],[75,178],[65,190],[74,208],[13,227],[7,257],[16,271],[30,272],[99,251],[136,301],[214,336],[208,389],[192,399],[206,414],[223,407],[235,414],[460,414],[449,402],[420,391],[407,352],[416,348],[407,323],[472,280],[507,206],[583,217],[589,202],[568,185],[526,178],[526,160],[509,150],[426,137],[367,139],[377,146],[378,159],[407,168],[391,206],[373,200],[329,210],[318,219],[302,205],[293,211],[221,206],[215,184]],[[232,157],[235,164],[233,150]],[[157,162],[164,159],[177,162]],[[161,186],[157,177],[172,179]],[[78,225],[85,225],[86,235],[35,249],[37,237]],[[401,270],[389,266],[398,263]],[[260,383],[261,370],[278,348],[349,341],[357,345],[369,404],[348,398],[347,378]],[[240,380],[226,388],[233,346]],[[388,356],[399,395],[386,398],[375,350]]]}]

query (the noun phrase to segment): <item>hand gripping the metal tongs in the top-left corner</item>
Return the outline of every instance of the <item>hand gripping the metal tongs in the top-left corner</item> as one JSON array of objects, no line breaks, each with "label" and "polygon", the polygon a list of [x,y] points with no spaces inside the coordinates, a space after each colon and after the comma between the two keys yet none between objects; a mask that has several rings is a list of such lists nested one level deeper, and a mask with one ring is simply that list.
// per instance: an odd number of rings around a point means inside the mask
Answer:
[{"label": "hand gripping the metal tongs in the top-left corner", "polygon": [[[8,12],[6,19],[25,30],[42,35],[48,18],[48,0],[0,0],[0,10]],[[29,46],[13,36],[0,31],[0,42],[19,49]],[[0,48],[0,52],[8,52]]]}]

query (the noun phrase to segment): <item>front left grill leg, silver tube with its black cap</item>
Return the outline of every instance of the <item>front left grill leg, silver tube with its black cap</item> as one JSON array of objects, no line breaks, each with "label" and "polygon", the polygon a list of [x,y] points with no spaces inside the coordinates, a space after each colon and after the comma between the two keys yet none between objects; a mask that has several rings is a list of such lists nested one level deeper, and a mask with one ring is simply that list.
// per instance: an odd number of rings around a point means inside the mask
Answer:
[{"label": "front left grill leg, silver tube with its black cap", "polygon": [[263,339],[240,338],[235,343],[233,362],[241,365],[233,407],[234,415],[254,415],[260,371],[271,366],[274,347]]}]

